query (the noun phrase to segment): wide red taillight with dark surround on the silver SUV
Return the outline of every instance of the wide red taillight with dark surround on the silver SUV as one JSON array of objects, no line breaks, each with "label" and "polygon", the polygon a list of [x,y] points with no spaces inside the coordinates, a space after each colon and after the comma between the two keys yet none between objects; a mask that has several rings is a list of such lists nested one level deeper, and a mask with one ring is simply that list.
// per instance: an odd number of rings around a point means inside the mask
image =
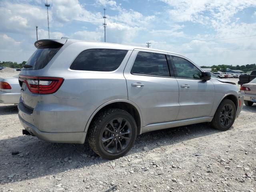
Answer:
[{"label": "wide red taillight with dark surround on the silver SUV", "polygon": [[20,75],[19,80],[25,82],[30,92],[34,94],[55,93],[64,79],[59,77],[34,77]]}]

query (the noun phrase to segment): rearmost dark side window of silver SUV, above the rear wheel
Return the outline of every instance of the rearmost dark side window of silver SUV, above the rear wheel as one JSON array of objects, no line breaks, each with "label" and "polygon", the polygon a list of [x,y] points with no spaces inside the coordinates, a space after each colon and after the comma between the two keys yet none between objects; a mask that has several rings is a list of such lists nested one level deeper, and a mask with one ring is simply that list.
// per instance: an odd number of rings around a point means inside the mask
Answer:
[{"label": "rearmost dark side window of silver SUV, above the rear wheel", "polygon": [[81,52],[71,64],[72,70],[83,71],[114,71],[116,70],[124,57],[127,50],[117,49],[89,49]]}]

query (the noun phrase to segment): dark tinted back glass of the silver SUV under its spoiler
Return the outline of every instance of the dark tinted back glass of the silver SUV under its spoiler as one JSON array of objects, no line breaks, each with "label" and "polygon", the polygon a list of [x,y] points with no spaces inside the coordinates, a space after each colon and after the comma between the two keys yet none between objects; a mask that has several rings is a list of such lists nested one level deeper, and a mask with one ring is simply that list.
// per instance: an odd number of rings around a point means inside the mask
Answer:
[{"label": "dark tinted back glass of the silver SUV under its spoiler", "polygon": [[37,49],[26,62],[32,67],[22,68],[22,70],[38,70],[44,68],[60,48]]}]

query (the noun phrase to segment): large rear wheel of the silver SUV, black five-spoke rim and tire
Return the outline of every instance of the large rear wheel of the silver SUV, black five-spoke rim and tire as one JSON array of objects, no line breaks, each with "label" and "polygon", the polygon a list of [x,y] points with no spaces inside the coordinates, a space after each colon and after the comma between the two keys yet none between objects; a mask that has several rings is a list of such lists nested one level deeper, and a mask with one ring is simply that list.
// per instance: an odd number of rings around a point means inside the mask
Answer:
[{"label": "large rear wheel of the silver SUV, black five-spoke rim and tire", "polygon": [[132,115],[116,108],[100,112],[88,131],[90,147],[105,159],[124,156],[132,148],[136,136],[137,126]]}]

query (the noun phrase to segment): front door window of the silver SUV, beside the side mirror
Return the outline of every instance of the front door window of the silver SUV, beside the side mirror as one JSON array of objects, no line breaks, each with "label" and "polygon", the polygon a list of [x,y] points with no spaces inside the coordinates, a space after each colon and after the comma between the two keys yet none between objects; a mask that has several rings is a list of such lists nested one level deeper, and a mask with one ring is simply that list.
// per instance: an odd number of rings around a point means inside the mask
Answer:
[{"label": "front door window of the silver SUV, beside the side mirror", "polygon": [[176,77],[200,79],[202,72],[191,62],[184,58],[172,56]]}]

